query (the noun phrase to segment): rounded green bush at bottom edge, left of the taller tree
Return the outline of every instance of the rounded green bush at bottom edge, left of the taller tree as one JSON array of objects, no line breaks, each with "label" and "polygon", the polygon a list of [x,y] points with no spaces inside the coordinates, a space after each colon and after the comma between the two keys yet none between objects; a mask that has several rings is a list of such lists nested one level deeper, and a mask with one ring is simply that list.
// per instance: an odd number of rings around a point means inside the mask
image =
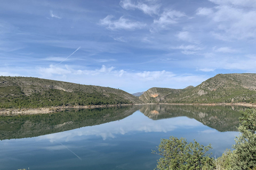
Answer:
[{"label": "rounded green bush at bottom edge, left of the taller tree", "polygon": [[170,137],[162,139],[153,154],[163,156],[158,160],[157,169],[212,169],[214,159],[210,158],[207,151],[212,149],[211,145],[204,147],[194,140],[188,143],[185,138]]}]

